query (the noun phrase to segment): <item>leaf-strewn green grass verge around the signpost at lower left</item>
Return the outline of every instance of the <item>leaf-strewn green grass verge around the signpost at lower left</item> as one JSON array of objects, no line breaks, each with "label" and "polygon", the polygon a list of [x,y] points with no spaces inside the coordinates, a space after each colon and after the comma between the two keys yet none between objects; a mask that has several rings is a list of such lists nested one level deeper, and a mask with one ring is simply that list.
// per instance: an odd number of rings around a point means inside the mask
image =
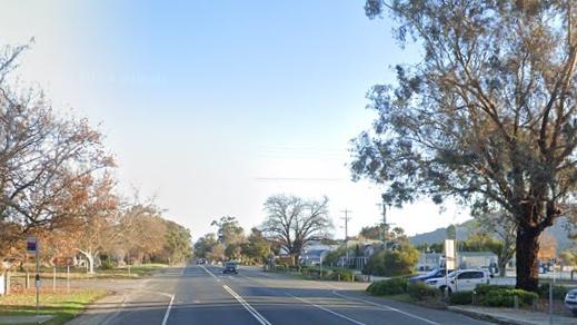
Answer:
[{"label": "leaf-strewn green grass verge around the signpost at lower left", "polygon": [[[57,292],[40,294],[40,315],[54,315],[44,324],[60,325],[82,313],[88,304],[108,293],[103,289],[76,289],[70,294]],[[36,293],[30,290],[0,297],[0,316],[36,315]]]}]

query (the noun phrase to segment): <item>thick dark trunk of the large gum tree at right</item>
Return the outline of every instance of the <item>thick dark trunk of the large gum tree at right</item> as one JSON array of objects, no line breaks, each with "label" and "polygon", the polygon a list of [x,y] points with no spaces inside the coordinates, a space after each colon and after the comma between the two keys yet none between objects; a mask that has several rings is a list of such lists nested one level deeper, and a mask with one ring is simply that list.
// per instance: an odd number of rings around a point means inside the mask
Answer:
[{"label": "thick dark trunk of the large gum tree at right", "polygon": [[517,229],[517,288],[537,292],[539,272],[537,254],[539,253],[539,232],[530,227]]}]

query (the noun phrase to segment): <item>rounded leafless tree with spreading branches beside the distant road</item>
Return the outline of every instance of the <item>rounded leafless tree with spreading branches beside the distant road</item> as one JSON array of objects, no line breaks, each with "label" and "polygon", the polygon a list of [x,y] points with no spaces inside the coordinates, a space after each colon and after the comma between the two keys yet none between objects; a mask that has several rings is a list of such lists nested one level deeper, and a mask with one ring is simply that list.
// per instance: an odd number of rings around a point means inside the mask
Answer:
[{"label": "rounded leafless tree with spreading branches beside the distant road", "polygon": [[302,248],[310,240],[326,237],[332,227],[327,205],[327,197],[318,201],[296,196],[271,196],[265,203],[267,218],[262,232],[292,255],[298,264]]}]

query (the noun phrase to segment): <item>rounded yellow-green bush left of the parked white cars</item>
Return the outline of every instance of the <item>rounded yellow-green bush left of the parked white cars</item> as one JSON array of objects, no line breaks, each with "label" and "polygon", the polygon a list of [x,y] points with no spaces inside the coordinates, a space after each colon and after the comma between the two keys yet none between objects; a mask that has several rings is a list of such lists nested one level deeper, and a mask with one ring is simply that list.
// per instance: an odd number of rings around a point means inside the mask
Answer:
[{"label": "rounded yellow-green bush left of the parked white cars", "polygon": [[369,258],[364,274],[399,276],[412,273],[419,259],[419,252],[410,245],[402,245],[398,250],[379,250]]}]

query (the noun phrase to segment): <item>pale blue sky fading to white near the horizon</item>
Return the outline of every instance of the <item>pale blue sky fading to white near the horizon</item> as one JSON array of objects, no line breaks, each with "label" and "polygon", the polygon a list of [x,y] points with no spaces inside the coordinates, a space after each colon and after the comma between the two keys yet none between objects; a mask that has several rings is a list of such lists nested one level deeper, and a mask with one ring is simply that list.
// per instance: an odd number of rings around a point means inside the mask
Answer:
[{"label": "pale blue sky fading to white near the horizon", "polygon": [[[155,197],[198,238],[237,217],[247,230],[276,194],[329,198],[336,238],[381,219],[379,188],[351,180],[350,140],[370,128],[371,86],[419,60],[364,1],[4,1],[0,46],[27,43],[19,82],[88,117],[117,157],[122,194]],[[461,208],[388,213],[417,234]]]}]

